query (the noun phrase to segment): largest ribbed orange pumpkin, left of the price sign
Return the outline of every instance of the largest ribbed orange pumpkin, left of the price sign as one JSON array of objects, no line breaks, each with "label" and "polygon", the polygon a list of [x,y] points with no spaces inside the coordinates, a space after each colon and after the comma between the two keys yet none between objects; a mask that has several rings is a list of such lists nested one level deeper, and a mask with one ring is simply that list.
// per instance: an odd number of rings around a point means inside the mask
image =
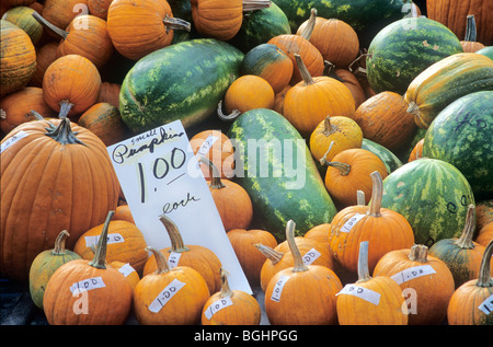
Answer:
[{"label": "largest ribbed orange pumpkin, left of the price sign", "polygon": [[0,270],[21,280],[60,230],[70,233],[71,250],[82,233],[104,222],[119,195],[106,147],[91,131],[68,118],[34,120],[10,131],[2,146],[23,134],[1,153],[0,204]]}]

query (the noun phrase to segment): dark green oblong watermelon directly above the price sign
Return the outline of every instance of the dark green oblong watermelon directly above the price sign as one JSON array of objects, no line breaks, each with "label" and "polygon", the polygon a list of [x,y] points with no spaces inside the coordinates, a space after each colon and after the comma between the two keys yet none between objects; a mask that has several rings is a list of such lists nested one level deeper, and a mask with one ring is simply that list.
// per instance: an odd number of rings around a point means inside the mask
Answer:
[{"label": "dark green oblong watermelon directly above the price sign", "polygon": [[243,57],[214,38],[181,42],[142,57],[122,83],[122,119],[134,132],[177,119],[185,128],[203,123],[238,78]]}]

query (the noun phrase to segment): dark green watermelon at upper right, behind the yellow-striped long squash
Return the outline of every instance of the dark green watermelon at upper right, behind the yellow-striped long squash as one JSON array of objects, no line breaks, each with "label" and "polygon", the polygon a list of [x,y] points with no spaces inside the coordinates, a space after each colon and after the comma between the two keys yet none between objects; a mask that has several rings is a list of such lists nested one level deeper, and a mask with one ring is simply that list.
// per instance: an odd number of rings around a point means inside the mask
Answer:
[{"label": "dark green watermelon at upper right, behind the yellow-striped long squash", "polygon": [[366,59],[368,83],[377,92],[404,94],[423,70],[462,53],[459,38],[447,26],[426,18],[405,18],[382,28],[371,41]]}]

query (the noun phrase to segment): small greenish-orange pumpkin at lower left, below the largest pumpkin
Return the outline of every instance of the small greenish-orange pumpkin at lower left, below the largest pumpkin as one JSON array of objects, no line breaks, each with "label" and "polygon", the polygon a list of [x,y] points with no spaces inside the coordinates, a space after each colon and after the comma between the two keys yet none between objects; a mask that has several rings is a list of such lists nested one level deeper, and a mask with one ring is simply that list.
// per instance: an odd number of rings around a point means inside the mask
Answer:
[{"label": "small greenish-orange pumpkin at lower left, below the largest pumpkin", "polygon": [[30,294],[34,304],[43,309],[43,297],[49,278],[61,265],[80,259],[79,254],[65,248],[65,240],[70,236],[62,230],[55,240],[55,246],[36,255],[30,268]]}]

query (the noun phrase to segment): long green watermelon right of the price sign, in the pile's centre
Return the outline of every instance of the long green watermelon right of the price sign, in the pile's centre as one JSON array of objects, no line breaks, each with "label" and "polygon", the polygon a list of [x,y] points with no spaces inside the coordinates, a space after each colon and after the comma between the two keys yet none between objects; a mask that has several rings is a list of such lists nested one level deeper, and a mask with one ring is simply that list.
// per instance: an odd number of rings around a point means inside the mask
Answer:
[{"label": "long green watermelon right of the price sign, in the pile's centre", "polygon": [[299,236],[332,221],[332,198],[305,139],[286,118],[272,109],[251,109],[231,124],[228,137],[237,153],[234,182],[252,199],[255,228],[284,241],[288,220]]}]

